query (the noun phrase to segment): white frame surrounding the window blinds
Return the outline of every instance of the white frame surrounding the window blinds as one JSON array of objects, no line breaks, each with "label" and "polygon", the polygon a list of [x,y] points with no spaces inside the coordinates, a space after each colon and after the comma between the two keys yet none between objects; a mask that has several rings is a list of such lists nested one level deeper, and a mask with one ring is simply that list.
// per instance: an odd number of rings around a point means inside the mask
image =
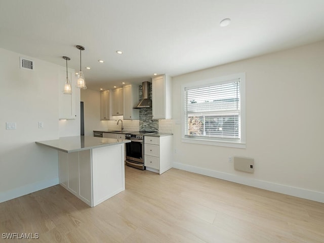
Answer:
[{"label": "white frame surrounding the window blinds", "polygon": [[[186,138],[185,119],[185,88],[196,88],[207,85],[218,85],[233,79],[240,79],[240,139],[226,138]],[[205,144],[223,147],[246,148],[246,74],[236,73],[216,78],[198,80],[192,83],[181,85],[181,141],[185,143]]]}]

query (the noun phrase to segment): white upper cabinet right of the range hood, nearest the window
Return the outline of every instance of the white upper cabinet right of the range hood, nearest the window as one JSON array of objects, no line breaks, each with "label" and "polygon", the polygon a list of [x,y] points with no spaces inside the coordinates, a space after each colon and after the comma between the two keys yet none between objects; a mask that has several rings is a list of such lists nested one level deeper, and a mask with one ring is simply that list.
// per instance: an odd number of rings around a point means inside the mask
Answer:
[{"label": "white upper cabinet right of the range hood, nearest the window", "polygon": [[152,78],[152,118],[171,119],[171,78],[160,75]]}]

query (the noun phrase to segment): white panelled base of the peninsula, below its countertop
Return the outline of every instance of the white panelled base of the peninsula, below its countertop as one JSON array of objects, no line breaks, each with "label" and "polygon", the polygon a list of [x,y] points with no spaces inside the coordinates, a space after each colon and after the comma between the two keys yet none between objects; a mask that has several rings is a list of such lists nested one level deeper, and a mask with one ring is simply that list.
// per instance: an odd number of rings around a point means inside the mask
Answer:
[{"label": "white panelled base of the peninsula, below its countertop", "polygon": [[59,151],[59,183],[94,207],[125,190],[124,144]]}]

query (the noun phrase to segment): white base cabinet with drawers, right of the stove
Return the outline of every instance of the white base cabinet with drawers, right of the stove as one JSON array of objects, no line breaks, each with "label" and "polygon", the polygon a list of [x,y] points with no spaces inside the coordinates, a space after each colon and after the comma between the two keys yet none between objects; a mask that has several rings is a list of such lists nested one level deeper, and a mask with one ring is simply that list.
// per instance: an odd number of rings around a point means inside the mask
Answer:
[{"label": "white base cabinet with drawers, right of the stove", "polygon": [[146,170],[162,174],[172,166],[172,135],[144,136],[144,166]]}]

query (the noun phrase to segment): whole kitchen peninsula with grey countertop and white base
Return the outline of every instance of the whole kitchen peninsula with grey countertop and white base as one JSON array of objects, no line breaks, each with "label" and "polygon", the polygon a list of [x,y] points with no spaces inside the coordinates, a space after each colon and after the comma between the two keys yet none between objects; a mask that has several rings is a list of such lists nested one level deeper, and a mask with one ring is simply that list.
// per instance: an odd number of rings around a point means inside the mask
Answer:
[{"label": "whole kitchen peninsula with grey countertop and white base", "polygon": [[94,207],[125,190],[123,139],[88,136],[37,141],[58,150],[59,183]]}]

